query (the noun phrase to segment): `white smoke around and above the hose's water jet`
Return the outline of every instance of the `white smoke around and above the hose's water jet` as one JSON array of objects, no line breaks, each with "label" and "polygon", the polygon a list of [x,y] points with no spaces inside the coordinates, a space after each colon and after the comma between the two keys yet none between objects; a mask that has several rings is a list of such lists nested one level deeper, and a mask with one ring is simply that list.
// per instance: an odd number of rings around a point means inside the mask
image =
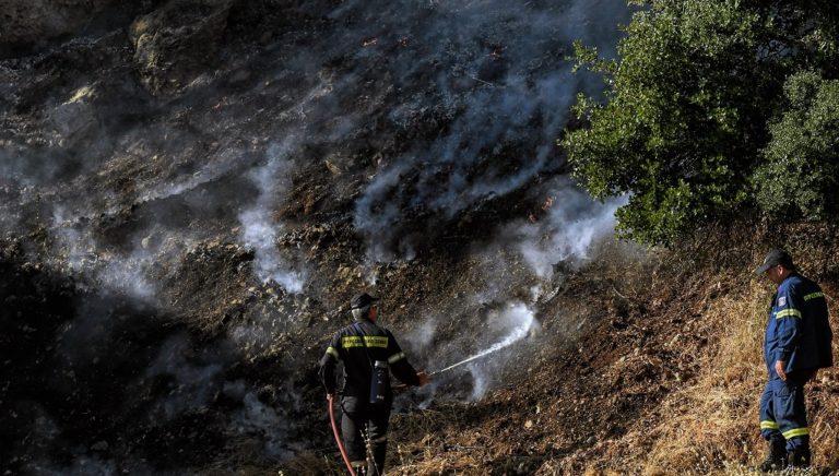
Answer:
[{"label": "white smoke around and above the hose's water jet", "polygon": [[[425,398],[421,406],[435,396],[460,393],[452,391],[451,383],[462,380],[464,370],[471,377],[464,397],[480,400],[493,389],[510,364],[508,352],[525,352],[525,337],[539,330],[535,309],[545,295],[555,296],[557,271],[595,258],[598,245],[613,236],[614,213],[625,202],[594,201],[566,177],[557,177],[533,193],[541,199],[537,211],[500,226],[488,246],[473,251],[471,261],[480,263],[477,279],[483,288],[450,313],[483,314],[481,324],[462,336],[434,344],[439,322],[426,318],[407,334],[412,348],[430,348],[430,361],[449,366],[429,389],[418,392]],[[463,349],[474,352],[463,356]]]}]

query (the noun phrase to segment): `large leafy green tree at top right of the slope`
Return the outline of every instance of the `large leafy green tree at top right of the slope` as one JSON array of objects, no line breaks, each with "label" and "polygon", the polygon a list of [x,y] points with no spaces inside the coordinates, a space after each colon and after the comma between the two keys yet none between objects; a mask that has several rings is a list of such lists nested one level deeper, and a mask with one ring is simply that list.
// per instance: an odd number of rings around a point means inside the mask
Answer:
[{"label": "large leafy green tree at top right of the slope", "polygon": [[835,10],[828,2],[658,0],[634,15],[618,60],[576,45],[578,66],[604,75],[606,100],[579,97],[586,127],[560,144],[593,197],[630,194],[618,211],[623,236],[672,243],[758,202],[788,207],[755,197],[781,170],[763,166],[763,151],[769,155],[769,140],[780,138],[770,122],[794,103],[782,93],[785,79],[802,68],[836,68]]}]

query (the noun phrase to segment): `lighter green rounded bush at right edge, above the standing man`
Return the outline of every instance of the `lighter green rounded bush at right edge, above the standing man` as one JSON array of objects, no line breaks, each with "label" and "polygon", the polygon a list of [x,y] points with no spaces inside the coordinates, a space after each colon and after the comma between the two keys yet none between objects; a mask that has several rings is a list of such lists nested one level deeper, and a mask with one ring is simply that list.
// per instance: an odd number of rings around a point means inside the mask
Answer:
[{"label": "lighter green rounded bush at right edge, above the standing man", "polygon": [[807,71],[784,87],[790,107],[770,126],[766,163],[754,175],[759,206],[769,215],[823,219],[836,215],[839,178],[839,81]]}]

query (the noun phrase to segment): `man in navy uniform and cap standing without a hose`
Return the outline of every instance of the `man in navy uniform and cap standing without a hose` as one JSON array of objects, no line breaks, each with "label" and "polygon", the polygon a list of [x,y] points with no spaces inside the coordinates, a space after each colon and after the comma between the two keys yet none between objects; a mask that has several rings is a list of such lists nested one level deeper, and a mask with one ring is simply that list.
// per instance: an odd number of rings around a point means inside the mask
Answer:
[{"label": "man in navy uniform and cap standing without a hose", "polygon": [[832,333],[822,288],[800,275],[792,258],[771,250],[756,274],[778,285],[766,326],[764,357],[769,381],[760,396],[760,435],[769,454],[765,472],[810,466],[804,383],[832,365]]}]

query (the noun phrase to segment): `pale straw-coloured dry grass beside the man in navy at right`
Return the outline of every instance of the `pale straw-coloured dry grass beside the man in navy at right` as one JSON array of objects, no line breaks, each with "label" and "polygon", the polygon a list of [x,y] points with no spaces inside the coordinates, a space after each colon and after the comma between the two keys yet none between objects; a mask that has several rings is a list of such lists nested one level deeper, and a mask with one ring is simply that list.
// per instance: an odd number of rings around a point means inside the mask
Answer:
[{"label": "pale straw-coloured dry grass beside the man in navy at right", "polygon": [[[765,442],[757,428],[758,398],[766,382],[763,335],[768,293],[753,281],[743,294],[726,296],[702,316],[709,352],[698,356],[701,374],[696,384],[671,394],[657,414],[652,447],[645,474],[744,474],[764,457]],[[837,320],[832,319],[837,329]],[[823,371],[808,385],[814,464],[837,467],[839,404],[836,371]]]}]

